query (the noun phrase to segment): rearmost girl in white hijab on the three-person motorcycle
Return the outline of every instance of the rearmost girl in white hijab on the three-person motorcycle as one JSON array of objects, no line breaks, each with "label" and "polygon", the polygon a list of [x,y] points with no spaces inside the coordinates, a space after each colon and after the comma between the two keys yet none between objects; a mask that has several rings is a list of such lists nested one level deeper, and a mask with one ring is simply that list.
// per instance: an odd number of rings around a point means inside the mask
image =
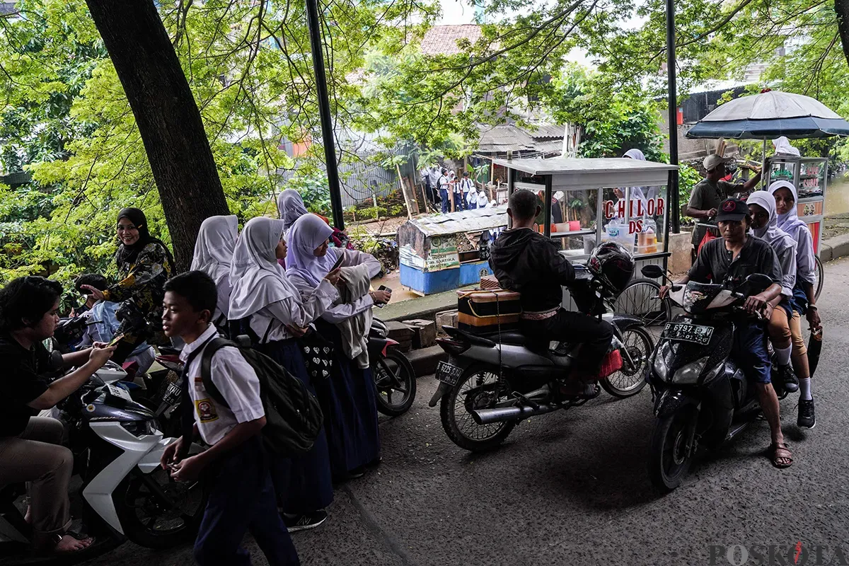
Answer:
[{"label": "rearmost girl in white hijab on the three-person motorcycle", "polygon": [[801,221],[796,210],[796,187],[787,181],[776,181],[769,186],[778,212],[778,226],[796,241],[796,287],[793,289],[793,315],[790,332],[793,340],[793,368],[799,378],[799,418],[796,423],[812,429],[816,424],[811,394],[811,372],[807,362],[807,347],[801,334],[801,316],[807,317],[808,326],[820,328],[817,298],[814,296],[816,261],[813,255],[813,238],[807,224]]}]

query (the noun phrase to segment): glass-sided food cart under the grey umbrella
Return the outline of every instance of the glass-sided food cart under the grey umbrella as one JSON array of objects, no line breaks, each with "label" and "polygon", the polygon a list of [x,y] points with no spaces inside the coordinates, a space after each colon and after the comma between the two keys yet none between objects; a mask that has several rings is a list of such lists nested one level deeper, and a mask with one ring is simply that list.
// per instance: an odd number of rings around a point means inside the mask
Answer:
[{"label": "glass-sided food cart under the grey umbrella", "polygon": [[788,181],[796,187],[799,200],[796,210],[807,224],[813,238],[813,252],[819,255],[822,235],[825,190],[829,178],[829,160],[824,157],[767,157],[764,167],[764,188],[773,182]]}]

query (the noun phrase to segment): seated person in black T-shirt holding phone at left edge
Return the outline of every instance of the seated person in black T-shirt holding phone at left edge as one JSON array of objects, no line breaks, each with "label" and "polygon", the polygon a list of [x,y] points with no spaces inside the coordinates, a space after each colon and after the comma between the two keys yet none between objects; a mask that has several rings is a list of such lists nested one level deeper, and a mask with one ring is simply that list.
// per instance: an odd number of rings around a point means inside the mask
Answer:
[{"label": "seated person in black T-shirt holding phone at left edge", "polygon": [[[42,341],[59,323],[62,286],[44,277],[19,277],[0,291],[0,485],[27,482],[32,541],[37,552],[69,554],[93,544],[70,532],[68,488],[74,456],[61,446],[64,429],[54,418],[37,417],[85,384],[109,361],[115,348],[51,356]],[[48,384],[45,373],[76,367]]]}]

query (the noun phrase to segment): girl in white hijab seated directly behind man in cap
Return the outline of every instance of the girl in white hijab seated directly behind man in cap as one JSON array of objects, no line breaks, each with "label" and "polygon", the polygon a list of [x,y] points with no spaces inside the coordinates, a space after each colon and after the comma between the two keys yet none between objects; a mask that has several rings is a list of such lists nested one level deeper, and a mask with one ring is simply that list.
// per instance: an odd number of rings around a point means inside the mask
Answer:
[{"label": "girl in white hijab seated directly behind man in cap", "polygon": [[769,317],[767,332],[775,348],[775,360],[779,366],[779,375],[773,376],[773,384],[784,384],[784,389],[796,391],[796,381],[790,370],[790,352],[792,350],[792,332],[790,320],[793,317],[793,289],[796,287],[796,240],[779,228],[778,213],[775,211],[775,199],[767,191],[755,191],[746,200],[751,216],[751,229],[757,238],[769,244],[779,257],[781,272],[781,294],[770,303],[773,307]]}]

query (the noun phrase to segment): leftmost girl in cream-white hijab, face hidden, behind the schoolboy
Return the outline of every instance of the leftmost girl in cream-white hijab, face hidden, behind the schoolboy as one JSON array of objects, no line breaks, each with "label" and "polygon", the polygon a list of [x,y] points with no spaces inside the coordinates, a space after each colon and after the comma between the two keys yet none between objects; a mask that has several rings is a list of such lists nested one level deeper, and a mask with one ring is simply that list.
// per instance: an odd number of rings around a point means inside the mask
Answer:
[{"label": "leftmost girl in cream-white hijab, face hidden, behind the schoolboy", "polygon": [[235,215],[210,216],[200,225],[194,242],[192,271],[205,272],[215,281],[218,303],[212,322],[225,328],[230,311],[230,261],[239,238],[239,219]]}]

